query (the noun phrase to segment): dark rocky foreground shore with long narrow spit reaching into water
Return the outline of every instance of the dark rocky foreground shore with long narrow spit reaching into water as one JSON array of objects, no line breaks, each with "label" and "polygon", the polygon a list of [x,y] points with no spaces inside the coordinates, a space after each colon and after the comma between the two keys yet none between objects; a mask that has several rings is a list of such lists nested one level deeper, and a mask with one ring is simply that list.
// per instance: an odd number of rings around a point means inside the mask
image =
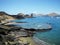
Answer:
[{"label": "dark rocky foreground shore with long narrow spit reaching into water", "polygon": [[[33,41],[33,36],[35,34],[35,32],[44,32],[44,31],[48,31],[51,29],[25,29],[22,27],[16,27],[14,25],[0,25],[0,38],[2,38],[2,42],[5,45],[38,45],[40,44]],[[6,38],[6,39],[5,39]],[[12,42],[10,40],[12,40]],[[19,39],[19,40],[18,40]],[[23,40],[23,42],[21,42],[21,39]],[[26,42],[29,41],[28,42]],[[17,41],[17,42],[16,42]],[[1,42],[0,42],[1,43]],[[2,43],[2,44],[3,44]],[[37,43],[37,44],[36,44]],[[42,43],[41,45],[46,45],[44,43]]]}]

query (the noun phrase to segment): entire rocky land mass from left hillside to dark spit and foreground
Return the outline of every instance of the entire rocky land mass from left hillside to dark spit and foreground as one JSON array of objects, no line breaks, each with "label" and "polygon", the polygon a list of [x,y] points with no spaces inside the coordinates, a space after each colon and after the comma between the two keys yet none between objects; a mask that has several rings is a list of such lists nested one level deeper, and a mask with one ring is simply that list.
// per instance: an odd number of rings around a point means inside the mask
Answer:
[{"label": "entire rocky land mass from left hillside to dark spit and foreground", "polygon": [[[34,18],[33,14],[10,15],[5,12],[0,12],[0,45],[50,45],[47,42],[39,40],[34,37],[36,32],[46,32],[52,29],[50,24],[47,24],[47,28],[36,27],[23,27],[16,26],[14,24],[22,24],[28,22],[13,22],[12,20],[22,20],[25,18]],[[31,24],[32,25],[32,24]],[[30,25],[29,25],[30,26]],[[46,25],[42,25],[46,26]],[[39,28],[38,28],[39,27]]]}]

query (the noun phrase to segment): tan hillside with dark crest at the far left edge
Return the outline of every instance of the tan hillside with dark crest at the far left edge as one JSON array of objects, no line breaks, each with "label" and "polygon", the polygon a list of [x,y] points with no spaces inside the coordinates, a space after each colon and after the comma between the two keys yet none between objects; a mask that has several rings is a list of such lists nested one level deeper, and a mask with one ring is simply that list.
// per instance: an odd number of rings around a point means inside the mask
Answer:
[{"label": "tan hillside with dark crest at the far left edge", "polygon": [[15,18],[12,16],[9,16],[9,14],[5,13],[5,12],[0,12],[0,23],[4,23],[10,20],[14,20]]}]

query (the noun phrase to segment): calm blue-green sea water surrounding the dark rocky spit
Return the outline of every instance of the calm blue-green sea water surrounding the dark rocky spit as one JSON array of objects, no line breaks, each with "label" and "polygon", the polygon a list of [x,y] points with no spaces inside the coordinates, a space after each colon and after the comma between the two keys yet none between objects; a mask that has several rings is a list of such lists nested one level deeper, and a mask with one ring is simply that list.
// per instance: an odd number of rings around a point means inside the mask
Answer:
[{"label": "calm blue-green sea water surrounding the dark rocky spit", "polygon": [[[26,18],[22,20],[15,20],[16,22],[27,22],[19,24],[23,27],[35,27],[37,25],[43,25],[50,23],[52,25],[52,30],[47,32],[37,32],[35,34],[39,39],[51,43],[53,45],[60,45],[60,18],[56,17],[36,17],[36,18]],[[44,27],[44,26],[43,26]],[[46,27],[46,25],[45,25]]]}]

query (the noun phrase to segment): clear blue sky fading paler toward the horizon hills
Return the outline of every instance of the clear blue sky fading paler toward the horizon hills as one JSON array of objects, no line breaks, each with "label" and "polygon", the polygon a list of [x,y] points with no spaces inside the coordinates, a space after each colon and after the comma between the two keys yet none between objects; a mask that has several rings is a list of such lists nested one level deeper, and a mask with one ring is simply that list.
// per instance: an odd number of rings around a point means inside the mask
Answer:
[{"label": "clear blue sky fading paler toward the horizon hills", "polygon": [[0,0],[0,11],[9,14],[60,14],[60,0]]}]

